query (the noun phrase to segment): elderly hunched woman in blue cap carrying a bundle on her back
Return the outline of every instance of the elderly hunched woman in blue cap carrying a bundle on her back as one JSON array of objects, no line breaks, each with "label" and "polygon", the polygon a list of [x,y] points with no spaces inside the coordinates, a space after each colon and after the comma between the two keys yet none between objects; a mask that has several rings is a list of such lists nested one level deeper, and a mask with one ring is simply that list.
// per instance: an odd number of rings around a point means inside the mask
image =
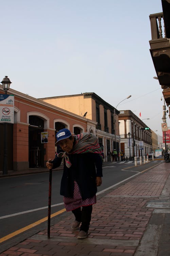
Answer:
[{"label": "elderly hunched woman in blue cap carrying a bundle on her back", "polygon": [[72,211],[75,217],[71,228],[76,230],[80,227],[78,238],[84,239],[88,236],[97,186],[102,184],[102,151],[97,137],[92,133],[72,136],[64,128],[56,133],[56,139],[62,152],[57,152],[46,166],[48,169],[55,169],[64,158],[60,194],[64,196],[66,211]]}]

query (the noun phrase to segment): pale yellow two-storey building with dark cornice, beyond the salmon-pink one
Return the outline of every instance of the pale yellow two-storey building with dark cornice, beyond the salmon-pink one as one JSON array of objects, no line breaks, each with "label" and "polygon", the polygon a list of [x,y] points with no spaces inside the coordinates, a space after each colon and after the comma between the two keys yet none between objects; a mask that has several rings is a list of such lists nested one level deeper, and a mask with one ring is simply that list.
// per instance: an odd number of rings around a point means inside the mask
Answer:
[{"label": "pale yellow two-storey building with dark cornice, beyond the salmon-pink one", "polygon": [[107,161],[107,152],[109,150],[111,152],[115,148],[117,151],[120,150],[119,111],[97,94],[82,93],[41,98],[40,100],[97,122],[96,130],[94,131],[94,129],[90,128],[87,132],[93,132],[98,137],[99,144],[103,147],[105,161]]}]

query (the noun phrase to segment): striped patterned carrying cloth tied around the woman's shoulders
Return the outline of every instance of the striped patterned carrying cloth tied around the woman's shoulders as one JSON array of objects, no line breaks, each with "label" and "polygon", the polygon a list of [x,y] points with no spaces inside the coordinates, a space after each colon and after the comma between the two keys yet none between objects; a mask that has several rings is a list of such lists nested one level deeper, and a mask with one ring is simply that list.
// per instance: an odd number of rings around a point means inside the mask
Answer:
[{"label": "striped patterned carrying cloth tied around the woman's shoulders", "polygon": [[64,157],[66,166],[70,168],[71,162],[69,160],[69,155],[71,154],[83,154],[83,153],[96,153],[100,154],[102,158],[102,150],[98,143],[98,138],[93,133],[83,132],[81,134],[75,135],[75,145],[70,153],[61,152],[57,154],[57,157]]}]

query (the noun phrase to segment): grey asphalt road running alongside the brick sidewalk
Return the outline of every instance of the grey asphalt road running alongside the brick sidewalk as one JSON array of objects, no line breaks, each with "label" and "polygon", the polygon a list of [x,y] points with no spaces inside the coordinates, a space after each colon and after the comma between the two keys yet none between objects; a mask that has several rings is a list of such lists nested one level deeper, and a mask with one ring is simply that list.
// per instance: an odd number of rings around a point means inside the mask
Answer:
[{"label": "grey asphalt road running alongside the brick sidewalk", "polygon": [[[141,166],[138,163],[137,167],[134,166],[134,162],[107,162],[103,165],[103,182],[98,187],[98,193],[100,194],[103,190],[107,190],[116,184],[119,185],[121,182],[126,182],[133,175],[152,168],[160,162],[150,161]],[[51,214],[64,209],[63,197],[60,196],[61,176],[62,170],[52,173]],[[3,245],[0,246],[1,248],[13,245],[16,241],[20,242],[33,233],[47,228],[46,221],[25,232],[17,231],[48,216],[48,194],[49,173],[0,179],[0,244]],[[64,214],[59,215],[59,217],[63,216]],[[52,221],[55,222],[55,218],[58,218],[58,216],[52,218],[51,223]],[[14,231],[17,231],[17,235],[10,238],[10,234]],[[3,241],[5,236],[9,237]]]}]

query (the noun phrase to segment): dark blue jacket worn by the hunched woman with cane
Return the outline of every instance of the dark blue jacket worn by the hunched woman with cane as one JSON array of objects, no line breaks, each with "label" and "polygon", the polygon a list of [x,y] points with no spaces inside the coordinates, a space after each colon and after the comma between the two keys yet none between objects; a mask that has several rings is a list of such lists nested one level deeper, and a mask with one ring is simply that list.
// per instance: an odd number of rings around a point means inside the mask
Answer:
[{"label": "dark blue jacket worn by the hunched woman with cane", "polygon": [[[77,181],[82,199],[90,198],[97,192],[96,177],[102,177],[102,159],[96,153],[70,154],[71,167],[67,168],[64,161],[64,171],[61,180],[60,194],[73,197],[74,181]],[[60,166],[62,158],[55,157],[53,169]]]}]

